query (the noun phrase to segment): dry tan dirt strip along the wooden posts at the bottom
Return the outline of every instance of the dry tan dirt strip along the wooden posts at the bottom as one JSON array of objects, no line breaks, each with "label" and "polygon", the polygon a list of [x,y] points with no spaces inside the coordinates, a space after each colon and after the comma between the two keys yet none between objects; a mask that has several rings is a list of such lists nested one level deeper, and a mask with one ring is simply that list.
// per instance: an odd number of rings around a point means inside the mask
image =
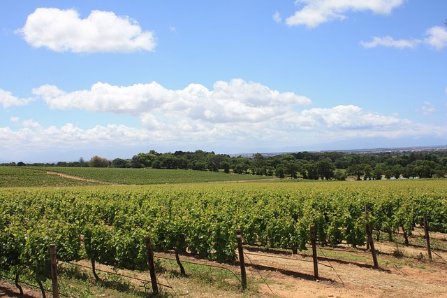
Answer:
[{"label": "dry tan dirt strip along the wooden posts at the bottom", "polygon": [[[256,254],[256,255],[254,255]],[[156,253],[156,255],[164,255]],[[168,256],[168,255],[166,255]],[[169,257],[169,256],[168,256]],[[173,256],[170,256],[173,257]],[[281,258],[279,258],[281,257]],[[441,262],[419,262],[413,258],[403,260],[413,262],[411,265],[388,265],[386,256],[380,256],[381,270],[372,269],[371,264],[362,262],[337,262],[337,260],[321,261],[318,266],[320,281],[313,281],[312,257],[303,255],[272,255],[271,253],[247,252],[247,276],[249,280],[258,283],[255,297],[447,297],[447,265]],[[197,260],[182,256],[182,260],[207,263],[207,260]],[[215,264],[210,262],[211,264]],[[82,261],[82,264],[89,264]],[[325,267],[330,264],[333,268]],[[235,273],[237,266],[219,264]],[[97,269],[112,271],[98,264]],[[125,271],[120,273],[126,274]],[[147,272],[136,273],[147,279]],[[163,276],[166,278],[166,276]],[[189,278],[170,279],[177,293],[188,293],[188,297],[247,297],[237,292],[226,292],[205,285],[193,285]],[[196,288],[193,288],[196,287]],[[24,288],[26,296],[17,295],[17,288],[11,283],[0,283],[0,297],[40,297],[40,292]]]}]

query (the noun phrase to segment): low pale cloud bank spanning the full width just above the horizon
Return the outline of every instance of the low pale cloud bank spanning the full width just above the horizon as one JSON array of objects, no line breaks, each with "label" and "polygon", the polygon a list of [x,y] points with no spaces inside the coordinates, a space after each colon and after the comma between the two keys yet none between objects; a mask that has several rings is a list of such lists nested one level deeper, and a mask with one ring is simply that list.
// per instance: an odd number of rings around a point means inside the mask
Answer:
[{"label": "low pale cloud bank spanning the full width just above the horizon", "polygon": [[289,109],[284,115],[258,119],[256,122],[214,123],[203,119],[193,120],[179,113],[144,113],[141,120],[145,125],[140,128],[110,124],[88,129],[71,123],[61,127],[43,127],[35,120],[22,120],[19,129],[0,128],[0,148],[75,150],[144,145],[150,148],[153,144],[175,148],[275,148],[356,138],[447,137],[446,126],[415,123],[353,105],[303,111]]}]

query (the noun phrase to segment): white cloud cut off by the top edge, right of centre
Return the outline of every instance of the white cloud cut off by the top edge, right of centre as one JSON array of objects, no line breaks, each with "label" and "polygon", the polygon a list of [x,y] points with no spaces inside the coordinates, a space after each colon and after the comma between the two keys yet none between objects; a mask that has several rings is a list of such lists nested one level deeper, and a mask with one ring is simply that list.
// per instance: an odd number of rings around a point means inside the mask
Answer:
[{"label": "white cloud cut off by the top edge, right of centre", "polygon": [[331,20],[346,18],[349,11],[367,11],[388,15],[394,8],[402,5],[403,0],[297,0],[302,8],[286,19],[288,26],[305,25],[313,28]]}]

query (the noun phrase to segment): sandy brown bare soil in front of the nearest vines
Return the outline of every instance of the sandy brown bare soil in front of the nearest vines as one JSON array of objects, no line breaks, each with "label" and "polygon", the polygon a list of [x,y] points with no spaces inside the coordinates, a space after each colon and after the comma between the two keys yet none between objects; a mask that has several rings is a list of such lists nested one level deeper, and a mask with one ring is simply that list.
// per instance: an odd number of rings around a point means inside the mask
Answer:
[{"label": "sandy brown bare soil in front of the nearest vines", "polygon": [[[441,234],[441,237],[443,235]],[[445,239],[445,235],[444,235]],[[427,251],[418,246],[401,246],[388,241],[376,242],[380,269],[374,269],[369,251],[365,248],[323,248],[318,250],[319,280],[314,281],[314,268],[309,252],[292,255],[288,252],[246,249],[249,295],[240,291],[214,288],[197,284],[191,278],[161,276],[161,283],[175,288],[174,296],[187,297],[447,297],[447,252],[438,250],[433,260],[427,260]],[[395,257],[396,250],[403,253]],[[335,254],[335,255],[334,255]],[[156,253],[155,256],[173,257]],[[330,256],[332,255],[332,257]],[[195,257],[182,260],[216,264]],[[89,262],[82,261],[86,265]],[[239,274],[233,264],[218,264]],[[97,269],[110,268],[98,264]],[[147,272],[120,273],[149,279]],[[233,281],[234,283],[234,281]],[[24,288],[26,295],[17,295],[15,285],[0,283],[0,297],[41,297],[37,290]],[[170,290],[165,290],[169,293]],[[111,297],[110,295],[106,295]]]}]

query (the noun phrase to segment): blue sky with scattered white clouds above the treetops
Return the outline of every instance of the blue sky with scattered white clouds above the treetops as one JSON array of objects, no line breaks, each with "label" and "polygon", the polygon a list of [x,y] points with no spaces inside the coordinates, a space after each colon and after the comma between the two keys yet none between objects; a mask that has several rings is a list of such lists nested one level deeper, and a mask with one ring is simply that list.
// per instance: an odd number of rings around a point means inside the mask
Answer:
[{"label": "blue sky with scattered white clouds above the treetops", "polygon": [[0,1],[0,162],[447,145],[445,0]]}]

